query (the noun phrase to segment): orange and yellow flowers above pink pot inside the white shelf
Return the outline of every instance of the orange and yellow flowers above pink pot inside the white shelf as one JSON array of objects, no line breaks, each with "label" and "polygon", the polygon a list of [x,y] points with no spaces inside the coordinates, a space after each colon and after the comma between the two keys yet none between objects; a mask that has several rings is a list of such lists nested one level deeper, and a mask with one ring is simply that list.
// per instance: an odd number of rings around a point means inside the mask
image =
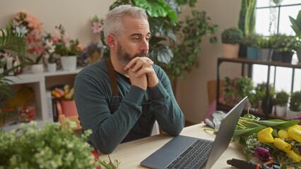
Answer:
[{"label": "orange and yellow flowers above pink pot inside the white shelf", "polygon": [[64,86],[64,89],[59,89],[58,87],[54,88],[51,93],[57,99],[64,101],[74,100],[74,87],[70,89],[68,84]]}]

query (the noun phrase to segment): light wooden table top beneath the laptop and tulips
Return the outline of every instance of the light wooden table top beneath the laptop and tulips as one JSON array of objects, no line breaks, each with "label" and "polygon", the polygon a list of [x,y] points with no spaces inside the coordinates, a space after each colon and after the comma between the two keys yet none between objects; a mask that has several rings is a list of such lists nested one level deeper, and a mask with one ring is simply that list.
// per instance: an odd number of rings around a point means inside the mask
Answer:
[{"label": "light wooden table top beneath the laptop and tulips", "polygon": [[[204,131],[204,128],[209,128],[207,125],[201,123],[197,125],[191,125],[189,127],[184,127],[181,135],[197,137],[201,139],[214,140],[216,134],[212,131]],[[144,168],[140,165],[146,157],[153,154],[157,149],[160,149],[165,143],[172,139],[168,134],[158,134],[151,137],[146,137],[143,139],[137,139],[131,142],[126,142],[117,146],[117,149],[110,154],[112,161],[117,159],[120,161],[119,168]],[[109,161],[107,154],[99,154],[101,160]],[[231,168],[227,164],[227,161],[232,158],[245,160],[246,157],[242,152],[242,146],[237,143],[231,142],[228,149],[218,158],[218,161],[213,165],[212,168]],[[252,158],[252,161],[259,162],[256,158]],[[102,166],[102,168],[104,168]]]}]

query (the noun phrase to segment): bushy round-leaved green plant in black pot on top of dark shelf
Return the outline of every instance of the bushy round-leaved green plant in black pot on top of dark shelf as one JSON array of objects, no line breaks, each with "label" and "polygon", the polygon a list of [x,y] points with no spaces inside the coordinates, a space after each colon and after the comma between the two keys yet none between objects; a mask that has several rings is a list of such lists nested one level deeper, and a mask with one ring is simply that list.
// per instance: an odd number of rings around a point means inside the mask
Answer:
[{"label": "bushy round-leaved green plant in black pot on top of dark shelf", "polygon": [[285,34],[272,35],[273,39],[273,55],[272,61],[282,61],[283,63],[291,63],[293,57],[293,49],[297,45],[295,37]]}]

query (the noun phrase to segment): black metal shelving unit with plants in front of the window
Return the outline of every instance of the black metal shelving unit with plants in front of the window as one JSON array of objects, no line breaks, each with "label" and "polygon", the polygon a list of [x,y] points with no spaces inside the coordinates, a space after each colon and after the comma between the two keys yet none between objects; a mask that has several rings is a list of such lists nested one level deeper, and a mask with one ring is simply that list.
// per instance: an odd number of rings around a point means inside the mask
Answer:
[{"label": "black metal shelving unit with plants in front of the window", "polygon": [[[229,63],[239,63],[242,65],[242,70],[241,70],[241,75],[244,76],[244,70],[245,70],[245,65],[248,65],[247,69],[247,76],[252,78],[252,65],[254,64],[259,64],[259,65],[267,65],[268,66],[268,75],[266,77],[266,98],[265,98],[265,103],[269,103],[268,95],[269,95],[269,85],[270,84],[270,74],[271,74],[271,66],[276,67],[285,67],[285,68],[292,68],[293,69],[293,74],[292,74],[292,85],[291,85],[291,91],[293,91],[294,87],[294,77],[295,77],[295,69],[301,69],[301,63],[281,63],[281,62],[273,62],[273,61],[255,61],[255,60],[249,60],[247,58],[218,58],[218,70],[217,70],[217,93],[216,93],[216,100],[218,101],[219,99],[219,85],[220,85],[220,64],[224,62],[229,62]],[[275,76],[274,76],[274,82],[275,84]],[[232,108],[232,105],[227,105],[220,103],[219,101],[216,104],[216,110],[222,110],[222,111],[230,111],[230,108]],[[247,110],[244,109],[246,112]],[[263,105],[263,110],[262,111],[251,111],[251,113],[256,114],[261,116],[262,118],[280,118],[276,115],[271,115],[271,112],[268,112],[268,104]]]}]

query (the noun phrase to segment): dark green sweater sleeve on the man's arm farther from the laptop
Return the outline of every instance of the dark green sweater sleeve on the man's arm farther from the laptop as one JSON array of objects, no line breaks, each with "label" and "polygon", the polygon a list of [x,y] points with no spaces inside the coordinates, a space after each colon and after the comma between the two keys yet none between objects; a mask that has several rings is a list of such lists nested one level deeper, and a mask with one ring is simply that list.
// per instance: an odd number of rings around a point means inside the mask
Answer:
[{"label": "dark green sweater sleeve on the man's arm farther from the laptop", "polygon": [[96,149],[109,154],[122,142],[141,115],[141,101],[146,91],[131,86],[113,114],[106,100],[107,89],[89,77],[76,77],[74,99],[83,130],[91,129],[88,137]]}]

